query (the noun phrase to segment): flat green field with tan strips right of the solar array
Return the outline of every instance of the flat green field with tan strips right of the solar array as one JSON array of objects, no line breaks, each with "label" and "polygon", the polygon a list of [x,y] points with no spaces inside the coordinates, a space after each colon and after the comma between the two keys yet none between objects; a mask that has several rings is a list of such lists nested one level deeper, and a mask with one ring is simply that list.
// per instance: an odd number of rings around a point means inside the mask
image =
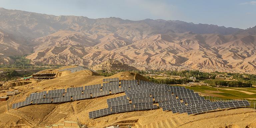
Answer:
[{"label": "flat green field with tan strips right of the solar array", "polygon": [[[192,86],[192,87],[185,87],[185,88],[194,90],[195,92],[203,93],[207,96],[213,96],[213,101],[214,99],[215,100],[247,99],[249,102],[251,102],[250,107],[254,108],[254,102],[256,104],[256,100],[255,100],[256,88],[235,88],[235,87],[213,88],[209,86]],[[232,89],[232,90],[225,90],[225,89]],[[245,92],[240,92],[240,91],[246,91],[254,94],[246,94]],[[255,98],[255,99],[248,99],[248,98]]]}]

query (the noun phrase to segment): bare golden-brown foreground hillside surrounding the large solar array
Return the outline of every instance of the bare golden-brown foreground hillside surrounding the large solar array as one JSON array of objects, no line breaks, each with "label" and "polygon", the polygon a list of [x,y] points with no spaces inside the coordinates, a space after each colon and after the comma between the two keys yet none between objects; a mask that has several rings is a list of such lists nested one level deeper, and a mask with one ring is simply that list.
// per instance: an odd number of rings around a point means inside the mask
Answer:
[{"label": "bare golden-brown foreground hillside surrounding the large solar array", "polygon": [[[132,80],[146,80],[139,74],[122,72],[109,78]],[[89,119],[89,111],[106,108],[106,99],[123,96],[124,93],[103,96],[94,99],[78,100],[59,104],[37,104],[29,105],[18,109],[10,109],[11,104],[25,100],[30,93],[43,90],[60,89],[67,87],[78,87],[102,83],[102,76],[91,76],[86,72],[67,74],[53,80],[46,80],[25,86],[14,87],[21,93],[12,96],[8,101],[0,102],[0,126],[4,127],[44,127],[62,121],[78,121],[89,127],[106,127],[109,125],[126,126],[134,125],[137,128],[162,128],[162,127],[225,127],[245,126],[255,127],[256,112],[251,108],[239,108],[236,110],[218,111],[188,116],[187,114],[172,114],[162,109],[133,111],[118,114],[111,114],[96,119]],[[3,92],[0,93],[1,95]]]}]

